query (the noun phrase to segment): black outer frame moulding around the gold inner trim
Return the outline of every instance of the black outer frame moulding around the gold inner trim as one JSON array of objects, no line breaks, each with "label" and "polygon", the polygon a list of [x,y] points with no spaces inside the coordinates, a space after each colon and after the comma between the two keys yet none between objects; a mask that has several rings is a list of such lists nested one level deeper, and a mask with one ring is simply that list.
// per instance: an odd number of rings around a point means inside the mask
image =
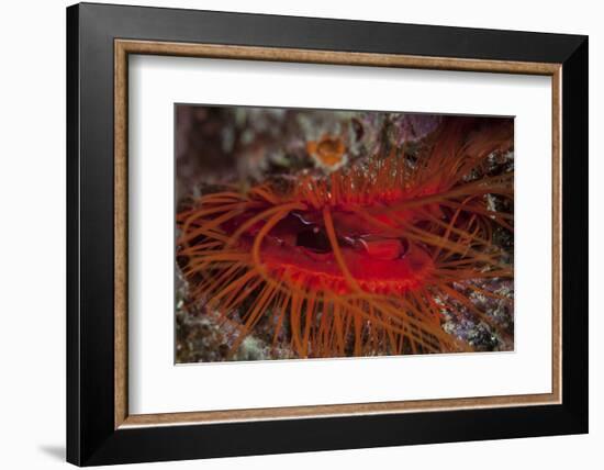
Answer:
[{"label": "black outer frame moulding around the gold inner trim", "polygon": [[[114,427],[114,40],[562,65],[562,403]],[[81,3],[67,9],[67,460],[78,466],[588,432],[588,37]]]}]

